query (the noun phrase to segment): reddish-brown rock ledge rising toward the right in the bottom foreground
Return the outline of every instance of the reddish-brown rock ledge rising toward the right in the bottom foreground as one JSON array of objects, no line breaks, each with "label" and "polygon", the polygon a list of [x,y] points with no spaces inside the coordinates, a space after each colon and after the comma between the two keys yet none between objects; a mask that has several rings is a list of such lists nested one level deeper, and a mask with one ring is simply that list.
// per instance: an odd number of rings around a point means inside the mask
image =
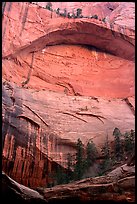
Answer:
[{"label": "reddish-brown rock ledge rising toward the right in the bottom foreground", "polygon": [[[123,173],[124,172],[124,173]],[[125,173],[126,172],[126,173]],[[127,176],[128,175],[128,176]],[[135,167],[123,165],[106,176],[38,189],[48,201],[135,201]]]}]

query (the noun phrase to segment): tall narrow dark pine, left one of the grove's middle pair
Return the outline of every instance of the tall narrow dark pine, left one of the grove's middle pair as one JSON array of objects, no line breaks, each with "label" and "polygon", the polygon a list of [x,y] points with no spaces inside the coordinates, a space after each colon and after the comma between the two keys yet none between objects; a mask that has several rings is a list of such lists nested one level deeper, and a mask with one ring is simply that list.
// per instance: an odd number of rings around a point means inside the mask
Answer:
[{"label": "tall narrow dark pine, left one of the grove's middle pair", "polygon": [[75,180],[79,180],[82,178],[84,174],[84,146],[82,141],[78,139],[76,146],[76,163],[74,166],[74,176]]}]

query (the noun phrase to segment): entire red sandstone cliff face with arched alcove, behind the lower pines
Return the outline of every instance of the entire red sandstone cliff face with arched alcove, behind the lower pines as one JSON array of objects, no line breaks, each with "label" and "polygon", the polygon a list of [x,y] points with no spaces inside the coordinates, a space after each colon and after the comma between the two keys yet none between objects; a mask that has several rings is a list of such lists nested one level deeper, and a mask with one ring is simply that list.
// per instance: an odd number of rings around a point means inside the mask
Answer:
[{"label": "entire red sandstone cliff face with arched alcove, behind the lower pines", "polygon": [[91,9],[108,22],[27,2],[8,2],[3,13],[2,168],[33,188],[66,167],[78,138],[99,148],[115,127],[135,129],[134,3],[69,3],[53,8]]}]

